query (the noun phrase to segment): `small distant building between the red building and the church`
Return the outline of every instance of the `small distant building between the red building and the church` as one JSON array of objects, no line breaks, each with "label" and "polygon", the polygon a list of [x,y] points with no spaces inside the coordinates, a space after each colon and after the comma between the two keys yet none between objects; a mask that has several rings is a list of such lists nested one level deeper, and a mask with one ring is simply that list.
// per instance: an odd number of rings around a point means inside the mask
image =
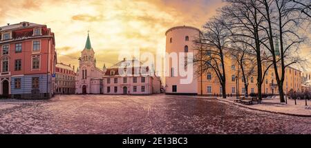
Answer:
[{"label": "small distant building between the red building and the church", "polygon": [[57,63],[55,72],[55,94],[75,94],[75,66]]}]

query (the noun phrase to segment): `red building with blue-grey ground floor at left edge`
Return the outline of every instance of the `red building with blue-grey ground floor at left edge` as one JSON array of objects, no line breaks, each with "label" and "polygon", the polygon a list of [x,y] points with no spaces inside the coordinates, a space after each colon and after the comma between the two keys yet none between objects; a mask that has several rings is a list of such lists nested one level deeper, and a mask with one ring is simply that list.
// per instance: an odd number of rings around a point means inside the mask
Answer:
[{"label": "red building with blue-grey ground floor at left edge", "polygon": [[54,93],[56,51],[54,33],[29,22],[0,27],[0,94],[39,99]]}]

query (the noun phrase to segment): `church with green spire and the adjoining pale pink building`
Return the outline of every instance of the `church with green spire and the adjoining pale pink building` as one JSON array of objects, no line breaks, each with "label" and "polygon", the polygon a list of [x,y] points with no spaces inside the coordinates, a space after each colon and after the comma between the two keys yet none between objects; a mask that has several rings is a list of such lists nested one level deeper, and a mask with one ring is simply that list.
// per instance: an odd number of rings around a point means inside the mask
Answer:
[{"label": "church with green spire and the adjoining pale pink building", "polygon": [[[96,67],[95,52],[88,35],[79,58],[76,94],[154,94],[160,93],[161,81],[153,70],[136,59],[120,61],[112,67]],[[122,67],[122,68],[120,68]]]}]

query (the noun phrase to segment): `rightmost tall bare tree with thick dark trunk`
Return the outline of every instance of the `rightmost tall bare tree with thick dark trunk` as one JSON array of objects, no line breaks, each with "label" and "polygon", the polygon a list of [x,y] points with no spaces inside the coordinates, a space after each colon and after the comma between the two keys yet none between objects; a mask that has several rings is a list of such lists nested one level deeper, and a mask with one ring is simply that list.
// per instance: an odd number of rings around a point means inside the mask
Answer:
[{"label": "rightmost tall bare tree with thick dark trunk", "polygon": [[[291,53],[292,50],[297,52],[299,44],[304,41],[298,33],[303,18],[293,9],[294,4],[290,0],[258,1],[263,7],[257,8],[257,10],[263,15],[265,22],[261,29],[265,32],[263,36],[267,36],[268,39],[266,42],[263,41],[262,44],[272,55],[280,102],[283,103],[285,102],[283,91],[285,68],[303,61],[298,54]],[[281,67],[280,70],[278,70],[278,67]]]}]

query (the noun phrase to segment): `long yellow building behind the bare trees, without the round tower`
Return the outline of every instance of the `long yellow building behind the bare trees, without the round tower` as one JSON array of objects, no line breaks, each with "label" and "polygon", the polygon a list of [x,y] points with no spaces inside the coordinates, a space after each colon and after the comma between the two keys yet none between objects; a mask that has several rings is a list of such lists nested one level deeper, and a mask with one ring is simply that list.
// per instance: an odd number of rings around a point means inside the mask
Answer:
[{"label": "long yellow building behind the bare trees, without the round tower", "polygon": [[[232,49],[226,49],[232,50]],[[249,55],[255,56],[255,55]],[[225,55],[225,72],[226,72],[226,94],[236,95],[237,93],[240,95],[245,94],[245,83],[243,81],[243,74],[241,74],[241,67],[236,63],[236,60],[233,56]],[[246,65],[247,66],[247,65]],[[256,65],[254,70],[256,71]],[[266,70],[268,65],[265,65],[263,62],[262,68],[263,72]],[[256,72],[252,72],[247,76],[248,94],[258,93],[257,88],[257,74]],[[281,67],[278,66],[279,74],[281,74]],[[200,74],[198,77],[198,94],[203,95],[219,95],[222,94],[222,87],[218,81],[216,73],[214,70],[210,70],[209,72],[205,72],[204,74]],[[263,94],[279,94],[279,88],[276,82],[274,67],[271,66],[269,70],[265,73],[265,77],[263,79],[263,84],[261,85],[261,90]],[[238,85],[238,87],[236,87]],[[202,90],[202,91],[201,91]],[[301,92],[301,71],[294,69],[293,67],[285,68],[285,78],[283,83],[283,91],[296,91]]]}]

